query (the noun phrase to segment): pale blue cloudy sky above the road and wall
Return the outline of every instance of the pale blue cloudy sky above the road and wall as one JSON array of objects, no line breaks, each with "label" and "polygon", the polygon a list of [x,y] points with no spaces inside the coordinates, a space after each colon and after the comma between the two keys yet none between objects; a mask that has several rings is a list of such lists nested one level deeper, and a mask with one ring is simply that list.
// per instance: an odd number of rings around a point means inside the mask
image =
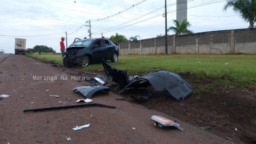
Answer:
[{"label": "pale blue cloudy sky above the road and wall", "polygon": [[[167,27],[175,26],[176,1],[167,0]],[[246,29],[223,0],[188,0],[188,27],[194,33]],[[15,38],[26,39],[26,48],[36,45],[60,52],[61,37],[68,46],[75,38],[124,35],[139,40],[165,34],[164,0],[0,0],[0,49],[14,53]],[[88,23],[86,23],[88,22]],[[66,36],[67,33],[67,36]],[[168,35],[173,35],[168,32]],[[65,41],[66,45],[66,41]]]}]

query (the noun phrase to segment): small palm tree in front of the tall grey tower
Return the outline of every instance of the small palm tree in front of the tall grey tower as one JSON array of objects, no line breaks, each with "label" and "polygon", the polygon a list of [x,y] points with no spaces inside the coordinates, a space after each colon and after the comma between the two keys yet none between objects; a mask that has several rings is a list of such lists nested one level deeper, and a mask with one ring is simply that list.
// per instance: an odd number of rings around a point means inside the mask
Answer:
[{"label": "small palm tree in front of the tall grey tower", "polygon": [[173,20],[173,23],[176,27],[170,26],[167,31],[173,31],[176,35],[193,34],[193,31],[187,29],[187,27],[191,26],[187,19],[184,19],[182,23],[180,23],[178,20]]}]

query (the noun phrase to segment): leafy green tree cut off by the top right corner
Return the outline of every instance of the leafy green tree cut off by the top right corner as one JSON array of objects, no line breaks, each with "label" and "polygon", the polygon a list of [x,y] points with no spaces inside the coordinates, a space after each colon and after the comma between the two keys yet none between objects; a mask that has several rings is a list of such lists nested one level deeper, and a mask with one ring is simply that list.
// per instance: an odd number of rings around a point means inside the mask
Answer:
[{"label": "leafy green tree cut off by the top right corner", "polygon": [[223,10],[232,7],[244,21],[249,22],[249,27],[253,28],[256,21],[256,1],[255,0],[227,0]]}]

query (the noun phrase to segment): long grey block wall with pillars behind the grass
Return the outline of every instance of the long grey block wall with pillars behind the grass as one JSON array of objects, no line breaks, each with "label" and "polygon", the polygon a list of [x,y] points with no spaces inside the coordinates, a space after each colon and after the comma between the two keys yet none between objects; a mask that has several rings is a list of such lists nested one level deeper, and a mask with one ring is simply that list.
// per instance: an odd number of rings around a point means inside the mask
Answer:
[{"label": "long grey block wall with pillars behind the grass", "polygon": [[[168,54],[256,54],[256,28],[167,36]],[[119,42],[120,54],[165,54],[165,37]]]}]

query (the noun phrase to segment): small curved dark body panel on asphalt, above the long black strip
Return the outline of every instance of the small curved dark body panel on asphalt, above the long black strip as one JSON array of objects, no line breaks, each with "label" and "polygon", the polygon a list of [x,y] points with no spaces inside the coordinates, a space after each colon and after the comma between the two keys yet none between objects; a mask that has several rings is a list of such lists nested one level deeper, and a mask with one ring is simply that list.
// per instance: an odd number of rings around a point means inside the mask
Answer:
[{"label": "small curved dark body panel on asphalt, above the long black strip", "polygon": [[81,94],[83,94],[87,98],[91,98],[94,93],[99,91],[104,91],[105,93],[110,92],[110,87],[107,86],[79,86],[75,87],[72,91],[79,91]]}]

